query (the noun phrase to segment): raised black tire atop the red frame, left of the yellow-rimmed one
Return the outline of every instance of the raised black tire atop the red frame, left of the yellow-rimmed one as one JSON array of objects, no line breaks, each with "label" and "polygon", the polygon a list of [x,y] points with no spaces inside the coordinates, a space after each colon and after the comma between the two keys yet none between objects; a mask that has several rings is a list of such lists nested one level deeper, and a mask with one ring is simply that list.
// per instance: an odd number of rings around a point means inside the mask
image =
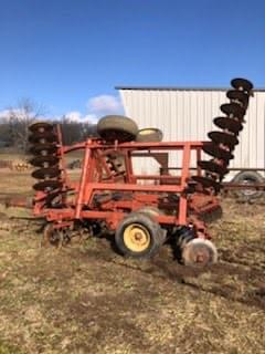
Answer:
[{"label": "raised black tire atop the red frame, left of the yellow-rimmed one", "polygon": [[135,140],[137,132],[137,124],[121,115],[106,115],[97,123],[97,133],[107,142],[131,142]]}]

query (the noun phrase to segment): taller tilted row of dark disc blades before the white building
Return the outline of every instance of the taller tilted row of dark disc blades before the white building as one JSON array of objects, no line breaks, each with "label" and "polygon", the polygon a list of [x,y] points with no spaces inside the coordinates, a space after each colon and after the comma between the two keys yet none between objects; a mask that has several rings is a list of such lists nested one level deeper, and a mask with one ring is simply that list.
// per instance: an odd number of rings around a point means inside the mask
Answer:
[{"label": "taller tilted row of dark disc blades before the white building", "polygon": [[198,166],[203,170],[203,176],[193,179],[203,188],[213,188],[218,192],[221,181],[227,174],[229,163],[234,158],[233,150],[239,144],[239,134],[243,129],[244,116],[248,106],[250,96],[253,94],[253,84],[245,79],[231,81],[232,90],[226,92],[230,103],[221,105],[223,116],[214,118],[214,124],[221,131],[208,134],[211,143],[202,149],[213,158],[199,160]]}]

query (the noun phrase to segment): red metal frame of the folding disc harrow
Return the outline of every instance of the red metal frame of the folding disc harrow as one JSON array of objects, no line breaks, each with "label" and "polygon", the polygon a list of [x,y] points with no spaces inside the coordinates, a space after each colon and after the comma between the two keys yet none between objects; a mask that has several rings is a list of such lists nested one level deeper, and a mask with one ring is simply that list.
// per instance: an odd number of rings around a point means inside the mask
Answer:
[{"label": "red metal frame of the folding disc harrow", "polygon": [[[34,198],[34,215],[45,216],[49,221],[73,222],[74,220],[105,220],[109,229],[116,229],[119,221],[130,211],[142,206],[157,206],[161,204],[163,196],[163,207],[171,210],[171,215],[157,217],[157,221],[168,226],[194,225],[198,229],[204,229],[201,221],[195,218],[200,210],[209,211],[214,209],[219,202],[216,197],[210,192],[198,191],[197,198],[191,198],[189,183],[191,181],[191,152],[195,150],[197,159],[200,159],[201,149],[208,142],[161,142],[161,143],[123,143],[106,144],[100,139],[87,139],[73,146],[63,146],[61,131],[57,127],[59,149],[61,158],[63,188],[60,192],[71,190],[75,195],[75,200],[64,199],[64,208],[46,208],[46,192],[38,191]],[[71,181],[66,171],[65,154],[82,149],[84,150],[82,174],[80,181]],[[139,153],[141,156],[150,156],[155,152],[180,150],[182,152],[182,166],[179,177],[170,175],[135,175],[132,170],[132,155]],[[118,175],[112,171],[106,157],[110,153],[118,153],[124,156],[125,174]],[[201,170],[198,167],[197,175]],[[138,184],[139,180],[155,180],[152,185]],[[167,185],[166,180],[173,184]],[[95,206],[95,198],[109,194],[110,198],[103,200],[99,206]],[[112,198],[113,192],[128,194],[130,198]],[[66,195],[66,194],[65,194]],[[177,195],[178,202],[171,202],[170,195]],[[206,199],[205,199],[206,198]],[[104,198],[103,198],[104,199]],[[198,202],[199,200],[199,202]],[[204,201],[203,201],[204,200]],[[197,206],[200,206],[199,208]],[[201,209],[200,209],[201,208]],[[204,237],[206,232],[204,232]]]}]

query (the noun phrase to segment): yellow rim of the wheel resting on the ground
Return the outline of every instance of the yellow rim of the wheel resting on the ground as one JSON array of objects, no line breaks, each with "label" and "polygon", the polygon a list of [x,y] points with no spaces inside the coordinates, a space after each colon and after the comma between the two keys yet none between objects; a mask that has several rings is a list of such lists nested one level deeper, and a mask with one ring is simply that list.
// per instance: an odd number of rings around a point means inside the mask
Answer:
[{"label": "yellow rim of the wheel resting on the ground", "polygon": [[139,223],[130,223],[124,230],[124,243],[132,252],[142,252],[151,242],[150,232]]}]

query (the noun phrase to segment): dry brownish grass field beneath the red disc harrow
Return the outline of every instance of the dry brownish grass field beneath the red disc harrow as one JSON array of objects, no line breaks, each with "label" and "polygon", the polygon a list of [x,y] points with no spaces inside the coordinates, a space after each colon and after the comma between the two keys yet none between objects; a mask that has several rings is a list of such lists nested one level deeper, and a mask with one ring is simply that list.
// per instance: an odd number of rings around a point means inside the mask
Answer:
[{"label": "dry brownish grass field beneath the red disc harrow", "polygon": [[[31,184],[0,170],[1,196]],[[170,246],[147,262],[104,238],[43,249],[30,211],[0,206],[0,354],[265,353],[265,206],[222,205],[220,261],[203,270]]]}]

